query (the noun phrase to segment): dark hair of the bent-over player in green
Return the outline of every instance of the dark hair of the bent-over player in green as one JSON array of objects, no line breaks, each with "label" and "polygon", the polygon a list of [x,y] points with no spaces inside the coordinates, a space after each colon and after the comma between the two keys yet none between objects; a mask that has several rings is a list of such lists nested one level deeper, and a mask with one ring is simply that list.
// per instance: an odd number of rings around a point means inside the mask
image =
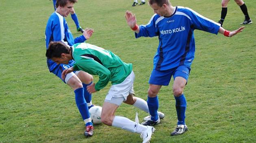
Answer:
[{"label": "dark hair of the bent-over player in green", "polygon": [[46,57],[48,59],[60,58],[62,53],[69,54],[70,48],[63,42],[50,42],[46,50]]}]

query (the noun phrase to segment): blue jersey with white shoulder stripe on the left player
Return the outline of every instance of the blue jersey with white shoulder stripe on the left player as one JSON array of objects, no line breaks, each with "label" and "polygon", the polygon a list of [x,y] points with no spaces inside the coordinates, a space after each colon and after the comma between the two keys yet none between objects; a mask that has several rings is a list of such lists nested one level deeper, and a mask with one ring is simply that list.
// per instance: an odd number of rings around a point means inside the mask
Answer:
[{"label": "blue jersey with white shoulder stripe on the left player", "polygon": [[[48,49],[48,45],[51,41],[61,41],[66,45],[73,46],[76,43],[82,43],[86,40],[83,35],[74,39],[65,18],[57,12],[52,13],[48,19],[45,36],[46,49]],[[69,61],[69,63],[72,62],[73,60]],[[47,59],[47,65],[50,71],[57,67],[57,64],[51,59]]]}]

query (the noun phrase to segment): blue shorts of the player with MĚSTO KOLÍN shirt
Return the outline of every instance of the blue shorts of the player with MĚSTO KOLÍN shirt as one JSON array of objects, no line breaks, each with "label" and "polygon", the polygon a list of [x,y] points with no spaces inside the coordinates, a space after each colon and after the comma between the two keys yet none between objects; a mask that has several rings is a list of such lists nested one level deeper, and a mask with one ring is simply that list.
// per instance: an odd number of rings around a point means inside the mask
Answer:
[{"label": "blue shorts of the player with M\u011aSTO KOL\u00cdN shirt", "polygon": [[178,67],[174,67],[172,69],[168,69],[164,71],[153,69],[148,83],[167,86],[169,85],[171,76],[174,77],[174,80],[176,77],[180,76],[188,81],[189,72],[190,72],[190,67],[187,65],[180,65]]}]

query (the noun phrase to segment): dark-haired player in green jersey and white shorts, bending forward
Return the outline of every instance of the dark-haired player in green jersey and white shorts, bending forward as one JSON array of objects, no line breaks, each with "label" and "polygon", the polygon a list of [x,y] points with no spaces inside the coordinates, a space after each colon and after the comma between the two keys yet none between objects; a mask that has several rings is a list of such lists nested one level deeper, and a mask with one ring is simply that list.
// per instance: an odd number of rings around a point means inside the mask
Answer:
[{"label": "dark-haired player in green jersey and white shorts, bending forward", "polygon": [[132,71],[131,63],[124,63],[111,51],[88,43],[78,43],[69,47],[62,42],[50,42],[48,47],[46,57],[54,62],[65,64],[71,59],[76,61],[72,67],[62,72],[62,78],[74,70],[82,70],[99,76],[97,83],[87,86],[89,93],[101,90],[111,81],[112,86],[102,106],[101,120],[104,124],[140,133],[143,143],[150,141],[155,130],[154,127],[143,126],[128,118],[115,116],[115,111],[122,102],[149,112],[145,100],[133,97],[135,95],[133,91],[135,74]]}]

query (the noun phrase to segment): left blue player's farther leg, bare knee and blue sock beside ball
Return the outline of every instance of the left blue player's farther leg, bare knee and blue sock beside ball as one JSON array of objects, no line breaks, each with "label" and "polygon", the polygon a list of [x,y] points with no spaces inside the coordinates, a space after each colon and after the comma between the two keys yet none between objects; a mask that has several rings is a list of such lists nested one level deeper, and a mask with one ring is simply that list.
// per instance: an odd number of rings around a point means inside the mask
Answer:
[{"label": "left blue player's farther leg, bare knee and blue sock beside ball", "polygon": [[92,83],[93,76],[88,74],[85,71],[76,71],[76,75],[82,81],[82,86],[85,89],[84,90],[85,101],[87,103],[88,109],[90,109],[91,107],[93,107],[93,104],[91,102],[91,94],[88,93],[88,91],[86,89],[87,89],[87,86]]}]

